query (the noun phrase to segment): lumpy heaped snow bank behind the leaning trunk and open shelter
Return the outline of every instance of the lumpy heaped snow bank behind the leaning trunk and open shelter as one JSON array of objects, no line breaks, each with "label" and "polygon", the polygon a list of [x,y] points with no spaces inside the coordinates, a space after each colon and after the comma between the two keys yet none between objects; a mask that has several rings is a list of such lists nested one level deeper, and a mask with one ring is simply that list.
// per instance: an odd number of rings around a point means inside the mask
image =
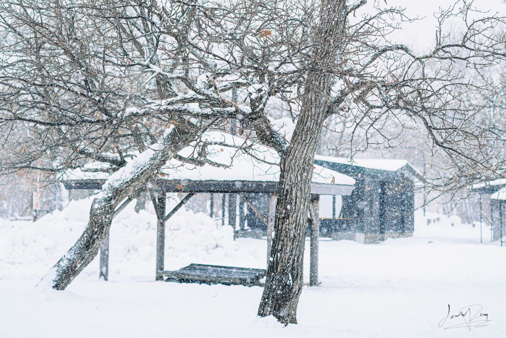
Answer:
[{"label": "lumpy heaped snow bank behind the leaning trunk and open shelter", "polygon": [[[71,201],[67,208],[38,221],[0,222],[0,279],[40,278],[77,241],[88,223],[93,197]],[[177,203],[167,203],[171,210]],[[131,202],[112,222],[109,279],[153,280],[156,254],[156,216],[152,206],[134,211]],[[223,264],[236,255],[231,227],[219,227],[208,216],[184,208],[166,223],[165,269],[190,263]],[[247,252],[244,252],[247,254]],[[78,278],[98,278],[99,259]]]}]

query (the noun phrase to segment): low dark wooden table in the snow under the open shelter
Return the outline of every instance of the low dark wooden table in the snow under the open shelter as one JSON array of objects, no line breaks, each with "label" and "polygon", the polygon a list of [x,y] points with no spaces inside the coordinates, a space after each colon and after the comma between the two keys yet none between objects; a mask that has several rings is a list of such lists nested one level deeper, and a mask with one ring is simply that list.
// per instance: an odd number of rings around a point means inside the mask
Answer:
[{"label": "low dark wooden table in the snow under the open shelter", "polygon": [[260,285],[265,270],[190,264],[176,271],[160,271],[160,275],[166,276],[167,282],[254,286]]}]

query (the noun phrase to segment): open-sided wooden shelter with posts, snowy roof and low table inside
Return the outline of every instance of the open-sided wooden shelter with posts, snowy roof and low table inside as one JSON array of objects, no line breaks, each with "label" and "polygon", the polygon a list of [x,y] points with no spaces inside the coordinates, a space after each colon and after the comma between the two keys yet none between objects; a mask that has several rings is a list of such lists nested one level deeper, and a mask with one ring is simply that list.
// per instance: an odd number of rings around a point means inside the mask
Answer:
[{"label": "open-sided wooden shelter with posts, snowy roof and low table inside", "polygon": [[[158,218],[156,238],[156,280],[197,281],[204,283],[225,283],[254,285],[260,280],[258,269],[217,267],[191,265],[178,271],[164,269],[165,222],[188,202],[195,193],[224,193],[238,194],[244,203],[257,214],[267,227],[267,257],[270,256],[272,245],[272,232],[274,229],[274,212],[279,180],[279,167],[277,154],[268,147],[250,144],[247,153],[237,154],[237,146],[244,145],[245,140],[237,136],[221,132],[210,132],[205,135],[210,143],[207,148],[207,158],[212,163],[196,166],[176,159],[168,161],[161,173],[153,179],[148,187],[151,199]],[[179,155],[191,157],[193,147],[183,149]],[[90,165],[90,167],[92,167]],[[69,171],[64,180],[67,189],[101,189],[109,174],[105,172],[87,171],[87,168]],[[313,203],[311,227],[311,268],[310,283],[318,281],[318,238],[319,217],[318,201],[320,194],[350,195],[354,189],[355,180],[341,173],[315,166],[311,184]],[[181,202],[170,212],[166,213],[166,193],[187,193]],[[245,194],[265,194],[268,200],[268,210],[261,212],[247,198]],[[232,199],[234,200],[234,199]],[[131,199],[126,200],[117,208],[118,214]],[[236,207],[229,205],[229,214],[235,215]],[[231,211],[233,210],[233,211]],[[231,225],[235,228],[235,219]],[[109,237],[101,248],[100,274],[108,278],[108,248]],[[268,264],[268,261],[267,261]],[[263,271],[263,270],[262,270]]]}]

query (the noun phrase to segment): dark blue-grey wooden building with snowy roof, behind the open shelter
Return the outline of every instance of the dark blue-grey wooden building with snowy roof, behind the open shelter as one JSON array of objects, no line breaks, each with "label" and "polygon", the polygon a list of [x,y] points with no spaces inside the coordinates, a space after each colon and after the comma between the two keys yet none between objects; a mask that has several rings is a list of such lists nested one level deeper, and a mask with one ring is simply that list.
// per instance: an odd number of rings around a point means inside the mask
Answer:
[{"label": "dark blue-grey wooden building with snowy roof, behind the open shelter", "polygon": [[[355,178],[342,204],[333,198],[332,217],[321,219],[320,236],[378,243],[414,231],[414,183],[420,174],[405,160],[315,156],[315,164]],[[320,208],[322,203],[320,202]],[[321,212],[320,212],[321,214]]]}]

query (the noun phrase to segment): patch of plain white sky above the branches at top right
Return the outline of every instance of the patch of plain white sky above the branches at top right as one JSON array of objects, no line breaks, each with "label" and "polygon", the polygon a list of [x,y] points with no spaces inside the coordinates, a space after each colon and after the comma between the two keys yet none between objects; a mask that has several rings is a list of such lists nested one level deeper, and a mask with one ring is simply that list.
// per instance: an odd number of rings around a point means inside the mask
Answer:
[{"label": "patch of plain white sky above the branches at top right", "polygon": [[[367,4],[361,8],[360,13],[357,11],[357,18],[359,14],[365,12],[373,13],[374,2],[381,7],[405,8],[404,13],[410,18],[423,18],[413,23],[403,23],[403,30],[396,33],[397,43],[406,44],[417,53],[428,52],[434,45],[437,26],[434,12],[439,12],[439,7],[446,9],[455,3],[454,0],[387,0],[387,4],[385,4],[384,0],[368,0]],[[506,4],[503,3],[503,0],[479,0],[475,1],[473,5],[482,11],[490,10],[488,15],[498,12],[499,15],[506,16]],[[461,22],[461,19],[458,20]]]}]

